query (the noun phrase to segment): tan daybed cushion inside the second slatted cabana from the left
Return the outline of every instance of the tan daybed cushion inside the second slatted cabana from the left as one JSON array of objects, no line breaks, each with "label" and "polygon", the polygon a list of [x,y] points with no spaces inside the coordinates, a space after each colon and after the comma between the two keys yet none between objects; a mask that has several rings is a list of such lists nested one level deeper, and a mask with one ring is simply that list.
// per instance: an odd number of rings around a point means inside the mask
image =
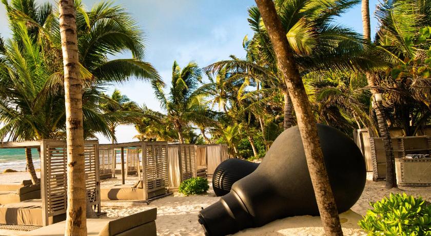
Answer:
[{"label": "tan daybed cushion inside the second slatted cabana from the left", "polygon": [[101,188],[100,199],[107,200],[144,200],[144,189],[132,185],[118,185],[112,188]]}]

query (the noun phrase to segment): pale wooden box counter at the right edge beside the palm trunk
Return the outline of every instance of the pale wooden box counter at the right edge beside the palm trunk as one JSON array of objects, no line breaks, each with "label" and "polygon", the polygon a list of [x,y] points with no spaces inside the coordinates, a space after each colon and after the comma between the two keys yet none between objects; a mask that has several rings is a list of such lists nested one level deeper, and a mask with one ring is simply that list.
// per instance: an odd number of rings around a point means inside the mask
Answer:
[{"label": "pale wooden box counter at the right edge beside the palm trunk", "polygon": [[395,159],[399,186],[431,186],[431,158]]}]

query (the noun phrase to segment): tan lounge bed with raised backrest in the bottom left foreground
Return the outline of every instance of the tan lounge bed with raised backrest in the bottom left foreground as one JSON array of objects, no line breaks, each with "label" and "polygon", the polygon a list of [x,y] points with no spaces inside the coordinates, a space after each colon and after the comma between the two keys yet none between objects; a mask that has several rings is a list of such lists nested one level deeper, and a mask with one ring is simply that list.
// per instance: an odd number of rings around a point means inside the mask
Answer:
[{"label": "tan lounge bed with raised backrest in the bottom left foreground", "polygon": [[[155,236],[157,208],[142,211],[123,218],[87,219],[87,235],[100,236]],[[29,231],[22,235],[63,236],[65,221]]]}]

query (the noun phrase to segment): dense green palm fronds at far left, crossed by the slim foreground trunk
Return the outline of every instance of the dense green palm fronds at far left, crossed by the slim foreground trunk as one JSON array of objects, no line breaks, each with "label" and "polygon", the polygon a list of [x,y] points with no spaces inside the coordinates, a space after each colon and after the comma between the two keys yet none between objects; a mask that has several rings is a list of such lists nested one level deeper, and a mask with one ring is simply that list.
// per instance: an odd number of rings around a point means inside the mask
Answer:
[{"label": "dense green palm fronds at far left, crossed by the slim foreground trunk", "polygon": [[[4,85],[0,100],[5,102],[5,126],[0,132],[8,140],[64,139],[64,72],[56,13],[49,3],[38,5],[34,0],[2,3],[10,18],[12,39],[6,44],[0,40],[0,83]],[[81,1],[76,1],[75,8],[84,136],[94,137],[99,132],[111,138],[108,123],[118,116],[101,112],[103,87],[132,76],[163,82],[150,64],[141,61],[143,32],[123,8],[102,2],[87,12]],[[132,59],[108,60],[108,54],[127,50],[132,52]]]}]

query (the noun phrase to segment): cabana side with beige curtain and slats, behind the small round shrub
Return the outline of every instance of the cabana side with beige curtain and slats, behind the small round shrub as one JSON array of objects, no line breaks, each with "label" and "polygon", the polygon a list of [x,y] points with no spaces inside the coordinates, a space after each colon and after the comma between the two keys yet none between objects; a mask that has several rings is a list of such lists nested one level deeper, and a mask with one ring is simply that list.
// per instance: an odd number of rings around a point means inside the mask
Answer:
[{"label": "cabana side with beige curtain and slats, behind the small round shrub", "polygon": [[169,189],[180,187],[180,183],[196,177],[196,149],[194,144],[168,145]]}]

